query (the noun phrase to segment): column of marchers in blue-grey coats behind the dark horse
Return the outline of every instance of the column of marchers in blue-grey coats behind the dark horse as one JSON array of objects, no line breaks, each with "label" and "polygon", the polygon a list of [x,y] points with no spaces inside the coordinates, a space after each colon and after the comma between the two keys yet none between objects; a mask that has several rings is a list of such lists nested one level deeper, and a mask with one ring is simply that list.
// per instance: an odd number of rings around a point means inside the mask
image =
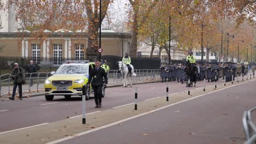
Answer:
[{"label": "column of marchers in blue-grey coats behind the dark horse", "polygon": [[[226,82],[231,81],[233,77],[233,81],[235,80],[235,77],[238,75],[246,75],[248,73],[248,70],[252,70],[252,75],[254,75],[255,71],[255,65],[251,65],[251,68],[249,65],[246,64],[234,64],[234,63],[205,63],[205,64],[199,64],[195,63],[197,67],[197,79],[196,81],[202,81],[204,77],[206,78],[206,81],[208,82],[214,82],[215,77],[217,81],[221,78],[224,80],[224,77],[226,79]],[[161,63],[160,66],[160,77],[162,82],[170,82],[170,81],[177,81],[183,83],[184,81],[187,81],[187,74],[185,73],[185,65],[183,63]],[[232,76],[233,75],[233,76]]]}]

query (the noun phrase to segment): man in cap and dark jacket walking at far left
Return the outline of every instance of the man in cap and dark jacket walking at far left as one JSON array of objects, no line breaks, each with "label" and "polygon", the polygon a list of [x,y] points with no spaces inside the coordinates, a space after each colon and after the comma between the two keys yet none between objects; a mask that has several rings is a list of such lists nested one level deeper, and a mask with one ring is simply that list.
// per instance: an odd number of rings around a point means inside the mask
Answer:
[{"label": "man in cap and dark jacket walking at far left", "polygon": [[18,66],[18,63],[14,63],[14,68],[11,71],[11,79],[14,80],[14,85],[13,85],[13,94],[11,94],[11,97],[9,97],[9,99],[11,100],[15,99],[16,88],[17,86],[19,86],[20,100],[22,100],[22,83],[25,83],[26,79],[25,79],[24,69],[20,68]]}]

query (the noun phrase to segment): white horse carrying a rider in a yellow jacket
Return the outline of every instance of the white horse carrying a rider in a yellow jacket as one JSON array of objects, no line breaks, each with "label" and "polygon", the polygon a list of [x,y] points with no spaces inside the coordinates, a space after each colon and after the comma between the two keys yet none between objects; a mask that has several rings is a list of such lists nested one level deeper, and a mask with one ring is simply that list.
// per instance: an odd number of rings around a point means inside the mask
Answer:
[{"label": "white horse carrying a rider in a yellow jacket", "polygon": [[[127,65],[124,63],[124,62],[121,62],[121,61],[118,61],[118,65],[119,65],[119,70],[121,72],[121,75],[123,76],[123,79],[124,79],[124,87],[127,87],[128,86],[128,73],[129,73],[129,70],[128,70],[128,67]],[[136,77],[137,75],[134,73],[134,68],[131,64],[129,64],[130,67],[131,67],[131,76],[132,77]],[[131,81],[131,85],[130,87],[132,87],[132,81]]]}]

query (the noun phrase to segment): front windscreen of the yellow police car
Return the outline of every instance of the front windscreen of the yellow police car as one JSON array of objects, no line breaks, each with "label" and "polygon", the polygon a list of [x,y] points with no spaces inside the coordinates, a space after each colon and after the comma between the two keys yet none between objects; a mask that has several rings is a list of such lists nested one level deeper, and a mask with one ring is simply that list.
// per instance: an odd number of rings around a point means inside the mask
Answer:
[{"label": "front windscreen of the yellow police car", "polygon": [[56,73],[57,75],[65,74],[87,74],[87,67],[85,65],[62,65]]}]

